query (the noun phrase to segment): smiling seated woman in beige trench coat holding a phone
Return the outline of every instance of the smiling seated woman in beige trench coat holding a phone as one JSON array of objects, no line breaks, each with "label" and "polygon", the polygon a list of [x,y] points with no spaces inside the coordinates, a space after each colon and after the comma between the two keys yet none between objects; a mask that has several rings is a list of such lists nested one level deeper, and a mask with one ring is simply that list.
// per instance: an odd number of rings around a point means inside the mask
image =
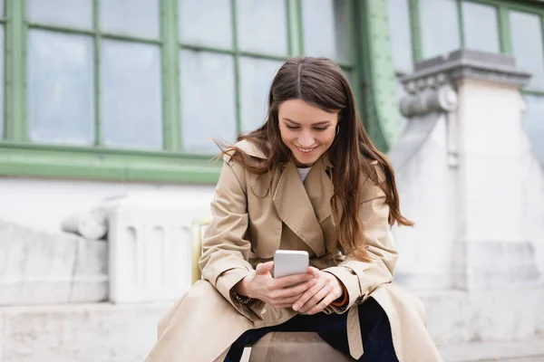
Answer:
[{"label": "smiling seated woman in beige trench coat holding a phone", "polygon": [[[267,122],[224,154],[203,280],[161,320],[149,362],[238,361],[270,331],[316,331],[355,360],[442,360],[421,301],[391,283],[390,226],[412,223],[334,62],[287,61]],[[304,250],[312,266],[274,279],[277,249]]]}]

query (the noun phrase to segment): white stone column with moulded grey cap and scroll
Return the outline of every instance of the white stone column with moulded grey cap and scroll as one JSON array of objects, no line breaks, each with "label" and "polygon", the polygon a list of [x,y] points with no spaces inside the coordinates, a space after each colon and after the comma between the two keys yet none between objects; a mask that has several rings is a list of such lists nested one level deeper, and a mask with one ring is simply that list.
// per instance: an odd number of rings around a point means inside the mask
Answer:
[{"label": "white stone column with moulded grey cap and scroll", "polygon": [[403,79],[409,122],[390,157],[416,225],[395,231],[400,282],[464,291],[541,282],[524,228],[528,80],[510,56],[467,50],[420,62]]}]

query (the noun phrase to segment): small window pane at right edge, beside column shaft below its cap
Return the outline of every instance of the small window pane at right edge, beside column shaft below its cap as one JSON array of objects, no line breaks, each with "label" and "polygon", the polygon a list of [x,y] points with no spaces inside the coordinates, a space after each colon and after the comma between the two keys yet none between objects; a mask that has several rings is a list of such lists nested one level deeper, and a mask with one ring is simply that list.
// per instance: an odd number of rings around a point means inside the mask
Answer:
[{"label": "small window pane at right edge, beside column shaft below its cap", "polygon": [[532,144],[533,151],[544,164],[544,97],[525,95],[527,110],[523,128]]}]

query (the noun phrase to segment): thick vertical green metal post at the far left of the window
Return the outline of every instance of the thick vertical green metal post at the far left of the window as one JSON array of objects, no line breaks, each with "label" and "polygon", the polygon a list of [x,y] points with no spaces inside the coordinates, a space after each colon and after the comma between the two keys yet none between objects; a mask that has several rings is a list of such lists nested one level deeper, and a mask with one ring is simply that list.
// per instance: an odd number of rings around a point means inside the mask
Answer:
[{"label": "thick vertical green metal post at the far left of the window", "polygon": [[24,110],[26,48],[24,42],[25,0],[7,0],[9,21],[5,29],[5,139],[27,139]]}]

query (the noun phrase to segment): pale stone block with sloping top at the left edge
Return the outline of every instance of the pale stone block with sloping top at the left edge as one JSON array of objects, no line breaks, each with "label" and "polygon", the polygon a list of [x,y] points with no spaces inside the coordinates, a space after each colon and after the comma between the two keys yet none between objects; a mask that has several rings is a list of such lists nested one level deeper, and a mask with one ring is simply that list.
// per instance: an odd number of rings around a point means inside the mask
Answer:
[{"label": "pale stone block with sloping top at the left edge", "polygon": [[0,220],[0,305],[108,299],[108,245]]}]

